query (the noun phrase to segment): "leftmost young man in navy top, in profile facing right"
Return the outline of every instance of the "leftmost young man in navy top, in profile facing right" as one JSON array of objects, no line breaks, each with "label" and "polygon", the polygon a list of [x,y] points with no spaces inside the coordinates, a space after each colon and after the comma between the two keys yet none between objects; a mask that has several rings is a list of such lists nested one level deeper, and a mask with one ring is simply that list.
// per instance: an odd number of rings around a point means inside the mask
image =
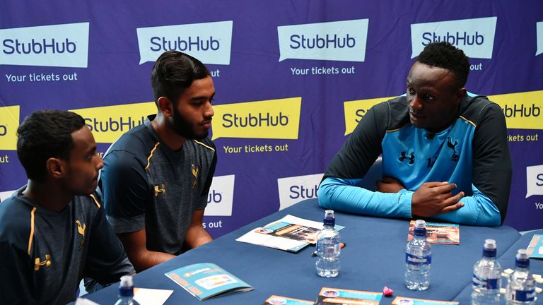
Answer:
[{"label": "leftmost young man in navy top, in profile facing right", "polygon": [[66,304],[83,276],[107,285],[134,273],[93,194],[103,162],[83,118],[35,112],[17,133],[28,184],[0,204],[2,304]]}]

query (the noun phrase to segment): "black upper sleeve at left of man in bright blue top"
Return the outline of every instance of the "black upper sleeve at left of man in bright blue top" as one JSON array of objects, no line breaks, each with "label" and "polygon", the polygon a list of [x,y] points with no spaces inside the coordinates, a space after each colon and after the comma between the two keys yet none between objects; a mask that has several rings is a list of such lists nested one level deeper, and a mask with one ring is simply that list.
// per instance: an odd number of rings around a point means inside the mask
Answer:
[{"label": "black upper sleeve at left of man in bright blue top", "polygon": [[383,151],[381,141],[385,136],[389,113],[387,102],[372,107],[332,159],[323,179],[362,179]]}]

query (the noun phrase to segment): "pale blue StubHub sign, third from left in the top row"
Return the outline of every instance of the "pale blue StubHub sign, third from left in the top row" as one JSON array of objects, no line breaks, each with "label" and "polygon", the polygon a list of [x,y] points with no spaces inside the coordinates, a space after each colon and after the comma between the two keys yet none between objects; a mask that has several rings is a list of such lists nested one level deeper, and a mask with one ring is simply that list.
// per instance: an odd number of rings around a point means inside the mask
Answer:
[{"label": "pale blue StubHub sign, third from left in the top row", "polygon": [[364,61],[369,19],[277,27],[279,61]]}]

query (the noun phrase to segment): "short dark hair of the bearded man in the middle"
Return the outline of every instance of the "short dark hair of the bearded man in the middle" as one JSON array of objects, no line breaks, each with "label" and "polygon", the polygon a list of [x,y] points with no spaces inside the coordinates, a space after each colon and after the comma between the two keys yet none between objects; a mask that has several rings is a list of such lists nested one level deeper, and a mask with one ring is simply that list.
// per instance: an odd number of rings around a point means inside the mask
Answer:
[{"label": "short dark hair of the bearded man in the middle", "polygon": [[158,98],[164,96],[175,104],[193,80],[209,75],[209,70],[202,61],[185,53],[166,51],[158,57],[151,73],[155,102],[158,104]]}]

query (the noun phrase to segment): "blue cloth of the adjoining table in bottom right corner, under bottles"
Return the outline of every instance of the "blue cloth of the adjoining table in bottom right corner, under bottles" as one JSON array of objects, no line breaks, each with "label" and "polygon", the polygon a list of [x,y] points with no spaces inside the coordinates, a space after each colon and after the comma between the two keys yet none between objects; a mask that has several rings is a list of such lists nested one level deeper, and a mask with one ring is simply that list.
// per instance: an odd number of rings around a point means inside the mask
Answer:
[{"label": "blue cloth of the adjoining table in bottom right corner, under bottles", "polygon": [[[543,234],[543,230],[539,229],[535,232],[525,234],[520,239],[518,239],[518,241],[516,241],[515,244],[513,244],[513,246],[511,246],[508,251],[506,251],[506,253],[503,253],[503,255],[498,258],[498,262],[501,265],[501,270],[506,270],[507,268],[511,268],[513,270],[515,269],[515,256],[517,255],[517,250],[526,249],[528,247],[528,244],[530,244],[530,241],[532,240],[534,234]],[[530,271],[539,275],[543,274],[543,259],[531,258]],[[505,288],[507,285],[507,280],[505,279],[505,277],[502,277],[501,281],[502,287]],[[537,284],[537,287],[542,287],[542,285]],[[469,304],[472,299],[471,296],[472,286],[468,285],[457,297],[455,297],[453,301],[459,301],[460,304]],[[536,297],[537,301],[535,304],[543,304],[543,294],[536,294]],[[501,304],[506,304],[503,295],[501,297]]]}]

